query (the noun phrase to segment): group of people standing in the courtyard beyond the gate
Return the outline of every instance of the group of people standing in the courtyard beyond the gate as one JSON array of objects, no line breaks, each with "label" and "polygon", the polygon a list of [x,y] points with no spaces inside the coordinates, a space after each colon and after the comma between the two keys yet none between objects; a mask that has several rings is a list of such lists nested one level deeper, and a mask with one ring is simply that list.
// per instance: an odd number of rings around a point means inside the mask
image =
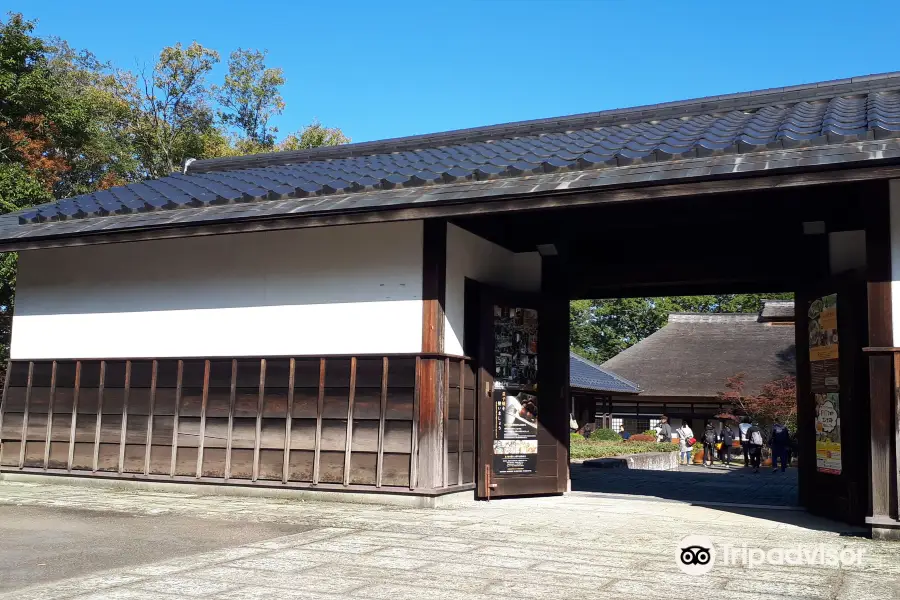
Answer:
[{"label": "group of people standing in the courtyard beyond the gate", "polygon": [[[700,439],[694,436],[691,426],[685,422],[676,430],[679,440],[679,449],[681,451],[681,463],[689,464],[691,460],[691,452],[695,444],[703,445],[703,465],[711,467],[716,456],[723,464],[731,464],[731,451],[734,440],[739,439],[741,448],[744,451],[744,466],[753,469],[754,473],[759,473],[759,467],[762,464],[762,448],[765,445],[763,434],[748,417],[741,419],[738,425],[738,431],[735,431],[728,425],[722,423],[722,428],[716,430],[712,423],[706,424],[706,430]],[[672,440],[672,428],[668,424],[666,417],[662,418],[660,424],[660,441]],[[776,421],[772,425],[769,433],[769,447],[772,449],[772,472],[780,470],[784,472],[791,460],[793,448],[793,440],[790,431],[784,423]]]}]

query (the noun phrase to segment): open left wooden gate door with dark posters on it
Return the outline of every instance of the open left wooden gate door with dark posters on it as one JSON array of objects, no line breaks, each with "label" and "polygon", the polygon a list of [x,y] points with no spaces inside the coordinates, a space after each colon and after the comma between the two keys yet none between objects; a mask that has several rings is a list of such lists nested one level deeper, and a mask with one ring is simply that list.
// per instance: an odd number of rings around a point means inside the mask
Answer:
[{"label": "open left wooden gate door with dark posters on it", "polygon": [[538,385],[539,297],[478,287],[478,496],[559,493],[559,445],[546,426],[559,399]]}]

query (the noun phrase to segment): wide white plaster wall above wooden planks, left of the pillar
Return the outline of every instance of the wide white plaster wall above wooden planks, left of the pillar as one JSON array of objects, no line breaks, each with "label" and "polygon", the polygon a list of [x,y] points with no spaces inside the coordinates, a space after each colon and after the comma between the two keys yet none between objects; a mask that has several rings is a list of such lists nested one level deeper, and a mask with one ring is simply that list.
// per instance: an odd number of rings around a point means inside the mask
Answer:
[{"label": "wide white plaster wall above wooden planks, left of the pillar", "polygon": [[14,359],[419,352],[422,223],[23,252]]}]

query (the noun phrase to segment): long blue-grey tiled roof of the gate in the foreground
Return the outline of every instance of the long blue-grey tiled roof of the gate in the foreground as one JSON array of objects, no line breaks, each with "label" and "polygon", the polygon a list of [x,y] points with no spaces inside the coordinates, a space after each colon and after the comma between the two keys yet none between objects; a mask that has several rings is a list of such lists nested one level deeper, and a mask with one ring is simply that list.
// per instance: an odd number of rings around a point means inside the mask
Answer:
[{"label": "long blue-grey tiled roof of the gate in the foreground", "polygon": [[[194,161],[184,174],[20,211],[0,221],[0,241],[886,160],[900,157],[894,138],[900,138],[900,74],[868,76]],[[825,150],[834,146],[841,149]],[[754,153],[777,156],[752,160]]]}]

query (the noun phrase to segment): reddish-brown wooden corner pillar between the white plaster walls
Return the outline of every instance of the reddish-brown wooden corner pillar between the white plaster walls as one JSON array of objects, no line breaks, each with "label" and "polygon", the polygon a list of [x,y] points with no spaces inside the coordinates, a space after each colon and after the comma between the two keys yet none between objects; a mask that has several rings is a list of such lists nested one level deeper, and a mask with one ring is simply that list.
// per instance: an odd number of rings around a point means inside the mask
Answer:
[{"label": "reddish-brown wooden corner pillar between the white plaster walls", "polygon": [[436,489],[444,485],[444,411],[446,397],[444,351],[444,306],[447,291],[447,223],[429,220],[423,224],[422,240],[422,352],[418,361],[416,388],[418,417],[415,487]]}]

